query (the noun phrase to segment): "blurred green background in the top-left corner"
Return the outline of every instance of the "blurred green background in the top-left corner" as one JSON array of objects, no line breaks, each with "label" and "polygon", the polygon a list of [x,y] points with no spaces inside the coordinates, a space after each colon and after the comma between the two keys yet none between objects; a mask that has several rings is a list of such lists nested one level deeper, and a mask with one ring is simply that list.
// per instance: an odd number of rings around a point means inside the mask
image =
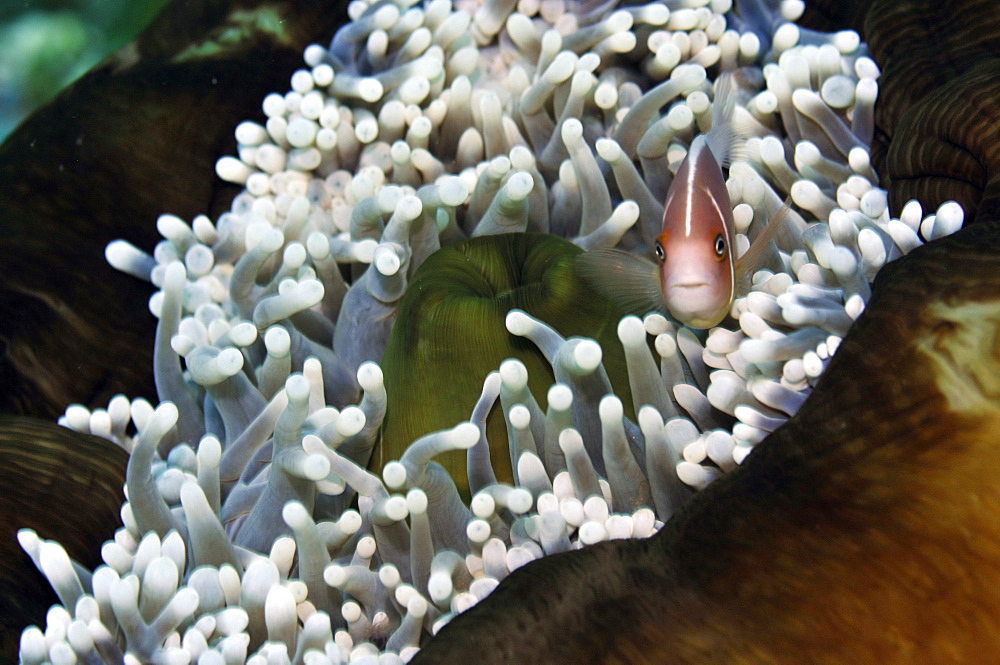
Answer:
[{"label": "blurred green background in the top-left corner", "polygon": [[0,1],[0,141],[131,41],[168,0]]}]

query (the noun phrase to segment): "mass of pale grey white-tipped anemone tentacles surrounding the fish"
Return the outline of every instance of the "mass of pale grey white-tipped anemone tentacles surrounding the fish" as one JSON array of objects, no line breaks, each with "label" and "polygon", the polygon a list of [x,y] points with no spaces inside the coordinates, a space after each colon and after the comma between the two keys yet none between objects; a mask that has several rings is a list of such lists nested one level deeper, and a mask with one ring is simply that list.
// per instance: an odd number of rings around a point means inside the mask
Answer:
[{"label": "mass of pale grey white-tipped anemone tentacles surrounding the fish", "polygon": [[[93,573],[21,533],[62,602],[25,630],[22,662],[405,662],[510,572],[647,537],[736,468],[801,406],[878,270],[962,223],[955,204],[890,216],[867,152],[879,71],[857,35],[798,28],[801,2],[763,7],[352,2],[291,90],[236,128],[217,164],[246,188],[232,209],[162,216],[152,255],[109,245],[160,288],[163,402],[61,419],[132,454],[124,526]],[[732,325],[623,319],[626,413],[596,342],[511,312],[508,330],[552,364],[547,407],[507,361],[468,423],[368,472],[387,409],[372,361],[423,260],[524,230],[647,252],[711,124],[706,69],[737,68],[741,251],[786,197],[798,211]],[[498,400],[514,486],[485,439]],[[433,461],[463,449],[470,505]]]}]

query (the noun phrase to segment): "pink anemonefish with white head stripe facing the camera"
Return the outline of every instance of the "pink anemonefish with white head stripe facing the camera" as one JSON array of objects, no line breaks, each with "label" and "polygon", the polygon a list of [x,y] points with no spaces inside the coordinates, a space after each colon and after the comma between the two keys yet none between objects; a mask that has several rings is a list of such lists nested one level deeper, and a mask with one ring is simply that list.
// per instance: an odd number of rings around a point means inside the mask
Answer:
[{"label": "pink anemonefish with white head stripe facing the camera", "polygon": [[787,216],[787,203],[750,249],[734,255],[736,230],[722,166],[733,142],[735,86],[731,74],[716,83],[712,129],[691,142],[667,191],[663,227],[653,247],[657,263],[620,249],[577,257],[577,271],[595,289],[629,311],[669,312],[692,328],[711,328],[746,292],[767,259],[771,241]]}]

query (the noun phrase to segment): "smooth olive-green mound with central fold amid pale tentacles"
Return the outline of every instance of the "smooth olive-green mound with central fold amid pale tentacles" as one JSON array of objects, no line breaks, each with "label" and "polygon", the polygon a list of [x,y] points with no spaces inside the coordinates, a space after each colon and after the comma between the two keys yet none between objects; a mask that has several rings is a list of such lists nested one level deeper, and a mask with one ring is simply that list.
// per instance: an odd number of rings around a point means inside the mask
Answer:
[{"label": "smooth olive-green mound with central fold amid pale tentacles", "polygon": [[[468,420],[483,379],[508,358],[528,370],[528,387],[546,408],[555,380],[552,368],[529,340],[507,332],[507,312],[522,309],[564,337],[590,337],[601,344],[604,367],[631,411],[625,356],[617,338],[624,316],[588,290],[574,257],[582,250],[558,236],[505,233],[472,238],[431,255],[413,274],[382,357],[388,412],[371,468],[380,472],[406,447],[429,432]],[[511,482],[503,414],[497,405],[486,436],[497,480]],[[468,493],[465,453],[435,458]]]}]

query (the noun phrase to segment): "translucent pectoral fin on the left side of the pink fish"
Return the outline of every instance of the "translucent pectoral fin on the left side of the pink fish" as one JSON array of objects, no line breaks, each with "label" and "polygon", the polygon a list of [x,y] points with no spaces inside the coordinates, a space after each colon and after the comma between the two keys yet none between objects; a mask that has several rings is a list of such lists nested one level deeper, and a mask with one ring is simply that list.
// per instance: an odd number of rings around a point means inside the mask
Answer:
[{"label": "translucent pectoral fin on the left side of the pink fish", "polygon": [[621,249],[593,249],[576,257],[576,272],[629,314],[667,311],[659,266],[648,259]]}]

